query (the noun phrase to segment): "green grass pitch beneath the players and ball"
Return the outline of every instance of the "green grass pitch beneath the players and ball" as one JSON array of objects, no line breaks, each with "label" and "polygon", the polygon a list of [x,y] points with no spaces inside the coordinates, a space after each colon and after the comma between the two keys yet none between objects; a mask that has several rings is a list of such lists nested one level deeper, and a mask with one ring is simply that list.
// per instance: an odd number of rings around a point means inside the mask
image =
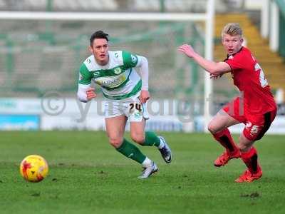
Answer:
[{"label": "green grass pitch beneath the players and ball", "polygon": [[[285,213],[284,136],[256,143],[260,180],[234,183],[245,166],[232,160],[214,168],[222,147],[212,136],[162,135],[172,163],[164,163],[156,148],[139,146],[159,167],[139,180],[140,165],[116,152],[103,132],[0,132],[0,213]],[[49,163],[41,183],[19,173],[31,154]]]}]

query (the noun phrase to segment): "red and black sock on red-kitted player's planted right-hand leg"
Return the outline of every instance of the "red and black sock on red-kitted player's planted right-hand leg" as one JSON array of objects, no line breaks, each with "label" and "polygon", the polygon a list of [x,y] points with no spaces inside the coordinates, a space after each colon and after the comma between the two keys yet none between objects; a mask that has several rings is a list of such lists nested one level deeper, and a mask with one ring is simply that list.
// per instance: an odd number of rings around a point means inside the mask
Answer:
[{"label": "red and black sock on red-kitted player's planted right-hand leg", "polygon": [[254,147],[242,153],[242,161],[244,161],[251,173],[257,173],[261,169],[257,161],[257,150]]}]

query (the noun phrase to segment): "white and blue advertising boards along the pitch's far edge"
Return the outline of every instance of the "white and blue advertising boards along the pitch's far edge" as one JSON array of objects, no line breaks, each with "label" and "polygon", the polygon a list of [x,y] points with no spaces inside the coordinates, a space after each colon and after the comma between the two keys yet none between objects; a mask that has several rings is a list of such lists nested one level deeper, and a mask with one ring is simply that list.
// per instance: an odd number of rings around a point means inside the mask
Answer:
[{"label": "white and blue advertising boards along the pitch's far edge", "polygon": [[[203,132],[204,117],[181,106],[167,99],[149,103],[147,130]],[[240,133],[243,128],[239,124],[229,129]],[[105,130],[103,99],[81,103],[76,98],[0,98],[0,130]],[[284,115],[276,116],[268,133],[285,133]]]}]

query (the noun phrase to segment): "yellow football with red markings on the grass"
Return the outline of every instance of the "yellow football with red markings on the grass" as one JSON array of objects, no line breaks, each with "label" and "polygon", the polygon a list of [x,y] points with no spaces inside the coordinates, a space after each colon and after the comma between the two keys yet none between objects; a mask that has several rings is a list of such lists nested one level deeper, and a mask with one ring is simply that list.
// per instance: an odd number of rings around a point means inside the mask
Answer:
[{"label": "yellow football with red markings on the grass", "polygon": [[40,182],[48,174],[48,163],[38,155],[26,156],[21,162],[20,173],[25,180]]}]

